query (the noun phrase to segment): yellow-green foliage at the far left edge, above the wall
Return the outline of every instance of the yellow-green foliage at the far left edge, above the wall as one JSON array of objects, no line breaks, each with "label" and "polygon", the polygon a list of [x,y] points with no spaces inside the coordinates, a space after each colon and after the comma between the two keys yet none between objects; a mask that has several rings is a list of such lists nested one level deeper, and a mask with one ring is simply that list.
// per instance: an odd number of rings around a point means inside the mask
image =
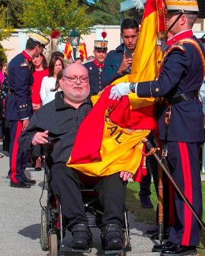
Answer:
[{"label": "yellow-green foliage at the far left edge, above the wall", "polygon": [[12,32],[12,27],[7,24],[7,9],[1,5],[0,6],[0,41],[10,37]]}]

